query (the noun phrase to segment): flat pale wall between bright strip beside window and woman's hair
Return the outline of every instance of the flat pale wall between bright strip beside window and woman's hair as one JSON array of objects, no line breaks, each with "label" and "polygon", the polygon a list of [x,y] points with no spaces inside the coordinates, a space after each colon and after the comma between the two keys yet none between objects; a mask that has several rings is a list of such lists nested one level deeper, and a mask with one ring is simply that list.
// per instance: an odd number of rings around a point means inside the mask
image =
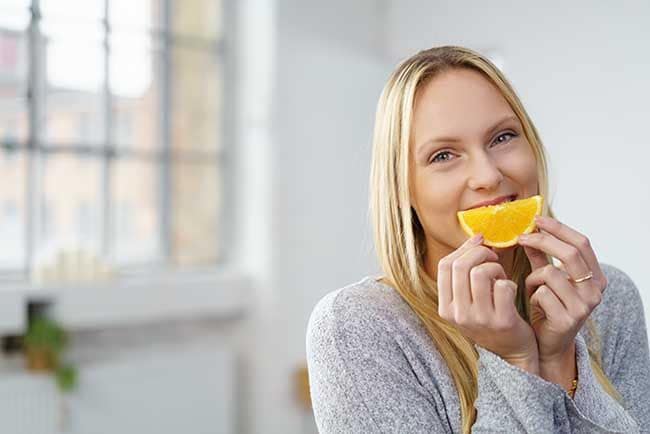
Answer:
[{"label": "flat pale wall between bright strip beside window and woman's hair", "polygon": [[274,270],[290,296],[295,357],[304,356],[308,315],[324,292],[375,265],[368,176],[375,105],[389,66],[378,55],[378,2],[349,3],[285,1],[279,8],[273,163],[274,241],[282,254]]}]

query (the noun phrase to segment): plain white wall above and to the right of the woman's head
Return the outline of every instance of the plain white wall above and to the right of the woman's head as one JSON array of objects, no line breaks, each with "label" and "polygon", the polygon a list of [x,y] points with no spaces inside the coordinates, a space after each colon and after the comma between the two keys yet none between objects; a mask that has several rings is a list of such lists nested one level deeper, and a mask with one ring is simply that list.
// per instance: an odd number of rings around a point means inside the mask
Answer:
[{"label": "plain white wall above and to the right of the woman's head", "polygon": [[650,317],[650,3],[391,3],[393,61],[434,45],[498,53],[548,150],[552,205],[621,268]]}]

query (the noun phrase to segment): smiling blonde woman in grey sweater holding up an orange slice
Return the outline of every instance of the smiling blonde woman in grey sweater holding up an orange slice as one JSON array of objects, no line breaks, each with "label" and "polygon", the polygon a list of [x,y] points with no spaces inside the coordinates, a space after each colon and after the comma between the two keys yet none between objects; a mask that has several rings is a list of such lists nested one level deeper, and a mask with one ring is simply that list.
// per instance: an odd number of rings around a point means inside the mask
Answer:
[{"label": "smiling blonde woman in grey sweater holding up an orange slice", "polygon": [[[457,211],[536,194],[544,217],[517,245],[466,240]],[[384,277],[328,294],[309,321],[321,433],[649,429],[639,292],[553,218],[541,141],[492,63],[438,47],[397,68],[370,195]]]}]

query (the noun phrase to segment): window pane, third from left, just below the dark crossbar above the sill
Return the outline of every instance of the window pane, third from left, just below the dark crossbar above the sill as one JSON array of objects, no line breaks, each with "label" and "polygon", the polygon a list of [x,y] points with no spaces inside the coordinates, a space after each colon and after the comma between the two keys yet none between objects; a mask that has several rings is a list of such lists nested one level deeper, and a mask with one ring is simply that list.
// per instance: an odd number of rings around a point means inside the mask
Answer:
[{"label": "window pane, third from left, just below the dark crossbar above the sill", "polygon": [[112,163],[111,223],[116,263],[160,259],[160,165],[118,159]]}]

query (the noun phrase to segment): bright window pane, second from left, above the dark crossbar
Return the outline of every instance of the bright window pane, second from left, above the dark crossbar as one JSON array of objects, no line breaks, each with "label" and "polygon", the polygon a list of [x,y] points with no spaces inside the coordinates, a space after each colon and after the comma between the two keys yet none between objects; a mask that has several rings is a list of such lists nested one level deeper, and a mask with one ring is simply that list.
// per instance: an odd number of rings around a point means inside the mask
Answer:
[{"label": "bright window pane, second from left, above the dark crossbar", "polygon": [[46,43],[46,144],[99,145],[105,141],[104,51],[66,35]]}]

